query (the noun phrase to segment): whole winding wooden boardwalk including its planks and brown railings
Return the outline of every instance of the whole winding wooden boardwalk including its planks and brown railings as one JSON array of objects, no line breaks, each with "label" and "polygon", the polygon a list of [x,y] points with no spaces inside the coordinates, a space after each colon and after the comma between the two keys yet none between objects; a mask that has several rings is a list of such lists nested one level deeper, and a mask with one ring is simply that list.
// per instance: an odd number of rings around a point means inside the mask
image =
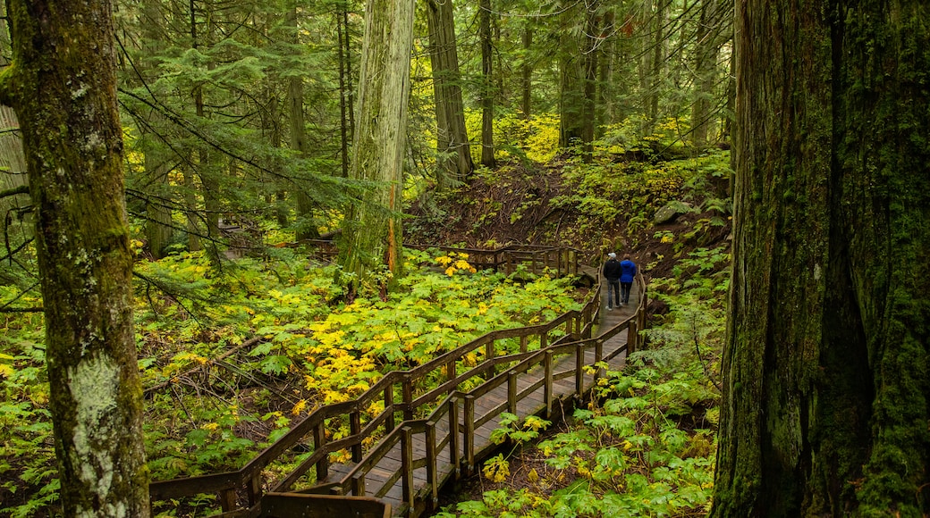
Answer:
[{"label": "whole winding wooden boardwalk including its planks and brown railings", "polygon": [[[215,516],[224,518],[417,517],[433,509],[447,482],[480,469],[498,447],[490,436],[503,412],[521,420],[555,415],[603,375],[591,366],[618,369],[640,343],[648,302],[642,276],[631,304],[607,311],[600,272],[580,265],[577,250],[458,252],[477,267],[585,275],[594,286],[579,310],[487,332],[414,369],[387,372],[352,400],[316,408],[239,470],[153,482],[152,500],[213,493],[222,509]],[[330,463],[346,453],[351,462]],[[275,462],[297,465],[272,486],[266,468]]]}]

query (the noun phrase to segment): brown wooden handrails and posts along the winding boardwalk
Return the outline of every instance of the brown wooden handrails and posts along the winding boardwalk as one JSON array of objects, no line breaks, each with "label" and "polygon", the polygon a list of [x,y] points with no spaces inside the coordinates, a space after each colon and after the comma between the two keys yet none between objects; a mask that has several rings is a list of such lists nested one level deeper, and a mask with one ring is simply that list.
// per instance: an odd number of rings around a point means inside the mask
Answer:
[{"label": "brown wooden handrails and posts along the winding boardwalk", "polygon": [[[496,251],[481,251],[477,249],[452,249],[448,247],[434,247],[441,250],[470,253],[469,259],[472,260],[471,254],[493,255],[493,267],[499,269],[506,266],[511,270],[515,264],[529,262],[531,271],[535,271],[538,266],[542,268],[550,267],[557,275],[575,275],[580,272],[578,265],[578,251],[574,249],[554,248],[554,247],[504,247]],[[551,260],[552,254],[555,255],[554,267]],[[565,259],[563,261],[563,258]],[[475,264],[475,263],[472,263]],[[357,398],[334,404],[326,407],[314,409],[307,417],[299,421],[294,427],[275,441],[269,447],[266,447],[258,456],[248,461],[241,469],[234,472],[214,473],[182,479],[154,482],[150,485],[152,499],[176,499],[185,496],[193,496],[199,493],[217,493],[220,495],[220,501],[223,504],[224,512],[233,511],[235,505],[235,491],[246,488],[248,501],[247,508],[254,508],[257,500],[260,499],[260,476],[262,469],[270,464],[273,460],[280,457],[289,449],[304,443],[304,438],[313,435],[313,454],[303,460],[298,469],[290,473],[285,479],[281,480],[273,491],[283,492],[293,486],[300,477],[316,467],[317,480],[326,478],[328,469],[328,456],[330,453],[340,449],[350,448],[352,450],[352,461],[356,463],[352,473],[344,477],[339,483],[330,485],[334,491],[341,494],[364,495],[365,473],[377,464],[377,460],[390,451],[403,437],[409,439],[413,434],[432,434],[432,440],[426,437],[427,449],[433,450],[432,460],[425,460],[429,479],[435,478],[437,466],[435,451],[441,451],[444,447],[450,448],[450,459],[453,460],[455,469],[458,470],[458,459],[464,456],[467,462],[467,469],[472,470],[474,466],[474,440],[470,436],[470,430],[489,421],[493,416],[481,416],[476,418],[473,415],[474,399],[486,394],[492,387],[508,383],[509,394],[506,406],[515,408],[515,405],[526,395],[531,394],[544,386],[544,397],[546,400],[547,414],[552,409],[552,387],[551,383],[559,379],[573,375],[573,372],[565,374],[552,372],[553,356],[575,353],[577,358],[583,357],[585,348],[594,346],[595,349],[600,347],[606,338],[604,336],[614,336],[628,328],[642,330],[644,329],[644,306],[645,306],[645,283],[642,275],[637,277],[637,284],[640,288],[640,304],[637,307],[633,317],[627,318],[618,326],[608,330],[606,335],[602,334],[600,339],[591,339],[591,330],[595,324],[598,309],[600,307],[601,284],[598,279],[594,290],[591,291],[591,297],[583,305],[580,311],[568,311],[563,315],[556,317],[545,324],[527,326],[523,328],[513,328],[509,330],[495,330],[485,333],[484,335],[472,340],[469,343],[462,344],[457,348],[437,356],[427,363],[421,364],[416,368],[392,371],[385,374],[378,382],[374,383],[365,393]],[[565,334],[558,339],[549,342],[551,332],[558,330],[559,327],[565,326]],[[539,348],[533,351],[527,351],[527,342],[529,337],[538,336]],[[496,343],[501,340],[520,338],[520,352],[498,354]],[[631,336],[631,341],[636,342]],[[638,345],[631,343],[631,350]],[[458,364],[462,363],[462,358],[481,347],[485,347],[485,357],[470,369],[461,373],[457,371]],[[597,349],[599,350],[599,349]],[[616,353],[618,354],[618,353]],[[600,353],[595,354],[600,357]],[[609,358],[607,358],[609,359]],[[577,368],[580,371],[581,363],[576,360]],[[496,372],[498,366],[508,366],[501,372]],[[533,367],[540,367],[545,370],[543,380],[534,383],[519,393],[516,392],[515,373],[525,372]],[[413,384],[437,369],[445,369],[446,381],[438,387],[433,388],[421,395],[413,394]],[[470,393],[461,393],[458,386],[461,382],[477,376],[486,376],[486,382],[472,389]],[[541,383],[541,385],[539,384]],[[582,378],[577,376],[578,388],[582,387]],[[403,400],[394,401],[395,389],[399,389]],[[414,414],[418,413],[420,408],[430,408],[438,399],[445,395],[445,399],[432,408],[430,417],[426,420],[414,420]],[[383,402],[383,409],[378,415],[371,416],[370,420],[363,427],[361,424],[362,412],[369,408],[373,402]],[[471,402],[471,404],[470,404]],[[458,405],[461,403],[464,413],[464,445],[458,445],[458,434],[446,434],[445,438],[435,443],[435,423],[441,418],[447,417],[449,426],[448,430],[458,429]],[[396,412],[403,412],[404,419],[400,423],[395,423]],[[348,417],[350,420],[350,435],[340,438],[336,441],[326,443],[324,433],[324,422],[326,419]],[[428,426],[428,423],[432,425]],[[379,428],[384,427],[384,436],[376,447],[372,447],[364,456],[362,454],[362,441],[365,437],[374,434]],[[432,432],[431,432],[432,430]],[[409,445],[409,444],[408,444]],[[432,445],[432,447],[430,446]],[[462,447],[459,447],[462,446]],[[406,459],[406,457],[405,457]],[[374,462],[374,463],[372,463]],[[412,462],[412,461],[411,461]],[[418,464],[420,462],[418,461]],[[409,464],[409,463],[408,463]],[[412,465],[412,464],[410,464]],[[367,468],[366,468],[367,467]],[[411,468],[409,465],[407,466]],[[422,467],[422,466],[420,466]],[[409,476],[401,474],[401,476]],[[397,478],[393,478],[396,482]],[[408,479],[405,479],[405,495],[409,489]],[[385,484],[383,488],[386,492],[391,484]],[[360,492],[361,490],[361,492]],[[435,499],[436,487],[432,487],[432,498]],[[379,491],[379,493],[381,493]],[[381,493],[383,495],[383,493]],[[225,495],[226,498],[223,498]],[[225,513],[224,513],[225,514]]]}]

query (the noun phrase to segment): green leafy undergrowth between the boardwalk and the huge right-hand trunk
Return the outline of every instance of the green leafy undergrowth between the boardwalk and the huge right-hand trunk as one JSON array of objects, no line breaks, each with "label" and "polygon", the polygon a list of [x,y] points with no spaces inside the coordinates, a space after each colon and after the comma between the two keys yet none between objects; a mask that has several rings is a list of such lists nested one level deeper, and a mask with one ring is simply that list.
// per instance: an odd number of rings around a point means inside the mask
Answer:
[{"label": "green leafy undergrowth between the boardwalk and the huge right-hand trunk", "polygon": [[[485,463],[494,488],[440,516],[694,516],[711,505],[717,408],[713,383],[724,318],[729,256],[699,249],[678,261],[675,278],[654,279],[668,304],[664,321],[646,330],[649,349],[627,369],[608,372],[574,424],[535,447],[522,462],[500,455]],[[704,315],[704,317],[699,316]],[[694,343],[700,344],[695,355]],[[703,356],[700,356],[703,355]],[[603,401],[603,404],[597,404]],[[504,415],[492,437],[520,427]],[[520,488],[512,487],[519,479]]]}]

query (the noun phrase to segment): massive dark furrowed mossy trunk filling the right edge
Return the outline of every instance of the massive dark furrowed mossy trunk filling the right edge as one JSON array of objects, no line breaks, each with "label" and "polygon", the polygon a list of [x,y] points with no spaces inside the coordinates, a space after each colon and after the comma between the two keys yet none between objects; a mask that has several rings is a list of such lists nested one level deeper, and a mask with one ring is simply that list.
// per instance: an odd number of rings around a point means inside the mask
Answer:
[{"label": "massive dark furrowed mossy trunk filling the right edge", "polygon": [[930,512],[930,11],[737,2],[713,516]]}]

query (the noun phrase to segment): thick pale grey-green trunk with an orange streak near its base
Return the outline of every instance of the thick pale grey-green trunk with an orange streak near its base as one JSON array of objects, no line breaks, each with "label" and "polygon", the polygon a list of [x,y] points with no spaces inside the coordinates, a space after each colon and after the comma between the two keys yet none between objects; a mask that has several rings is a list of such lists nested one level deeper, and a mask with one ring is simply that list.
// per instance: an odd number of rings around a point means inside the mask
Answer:
[{"label": "thick pale grey-green trunk with an orange streak near its base", "polygon": [[339,262],[355,276],[355,288],[384,267],[395,276],[402,270],[400,212],[413,15],[413,0],[368,0],[365,6],[350,177],[377,185],[348,208],[343,225]]}]

